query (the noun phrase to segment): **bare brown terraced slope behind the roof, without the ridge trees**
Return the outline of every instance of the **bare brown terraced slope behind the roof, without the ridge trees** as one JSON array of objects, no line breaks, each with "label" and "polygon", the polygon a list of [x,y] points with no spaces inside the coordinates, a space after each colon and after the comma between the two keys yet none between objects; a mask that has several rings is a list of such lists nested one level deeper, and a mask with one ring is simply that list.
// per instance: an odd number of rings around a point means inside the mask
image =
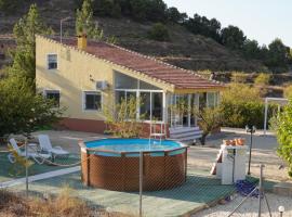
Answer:
[{"label": "bare brown terraced slope behind the roof, without the ridge trees", "polygon": [[[72,1],[35,0],[34,2],[37,2],[41,15],[56,34],[59,34],[61,18],[75,16]],[[11,15],[0,13],[0,34],[12,33],[14,23],[26,13],[28,7],[29,3]],[[184,68],[252,72],[261,71],[264,67],[256,61],[245,61],[240,54],[227,50],[211,38],[193,35],[180,25],[169,24],[170,41],[159,42],[147,38],[147,33],[152,23],[137,23],[127,17],[95,18],[98,25],[103,27],[105,35],[116,36],[120,46],[147,55],[154,55]],[[64,23],[65,35],[75,35],[74,24],[74,21]]]}]

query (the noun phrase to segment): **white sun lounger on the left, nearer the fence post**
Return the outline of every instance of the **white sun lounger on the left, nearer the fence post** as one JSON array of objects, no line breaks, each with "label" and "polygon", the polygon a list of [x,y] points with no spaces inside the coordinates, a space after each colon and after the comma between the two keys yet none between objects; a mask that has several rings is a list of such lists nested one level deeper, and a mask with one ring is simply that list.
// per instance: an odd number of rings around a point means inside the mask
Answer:
[{"label": "white sun lounger on the left, nearer the fence post", "polygon": [[[10,142],[12,149],[17,153],[17,155],[19,155],[22,157],[26,157],[25,151],[22,151],[19,149],[19,146],[17,145],[17,142],[15,141],[14,138],[10,139],[9,142]],[[31,150],[30,148],[27,149],[27,158],[32,158],[38,164],[43,164],[43,162],[50,157],[51,157],[50,154],[38,153],[37,151]],[[10,153],[8,155],[8,158],[12,164],[15,163],[15,156],[13,155],[13,153]]]}]

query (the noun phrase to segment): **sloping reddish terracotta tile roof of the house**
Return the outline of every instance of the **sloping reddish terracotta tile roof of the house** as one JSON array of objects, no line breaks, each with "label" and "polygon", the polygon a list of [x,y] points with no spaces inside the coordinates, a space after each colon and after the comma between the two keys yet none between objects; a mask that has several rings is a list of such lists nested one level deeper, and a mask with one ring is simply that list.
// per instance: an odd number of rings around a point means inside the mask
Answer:
[{"label": "sloping reddish terracotta tile roof of the house", "polygon": [[[63,39],[63,42],[67,46],[77,47],[77,40],[72,38]],[[88,41],[85,51],[96,58],[110,61],[115,64],[125,66],[149,77],[173,85],[175,89],[217,89],[224,87],[222,84],[202,78],[190,71],[178,68],[118,46]]]}]

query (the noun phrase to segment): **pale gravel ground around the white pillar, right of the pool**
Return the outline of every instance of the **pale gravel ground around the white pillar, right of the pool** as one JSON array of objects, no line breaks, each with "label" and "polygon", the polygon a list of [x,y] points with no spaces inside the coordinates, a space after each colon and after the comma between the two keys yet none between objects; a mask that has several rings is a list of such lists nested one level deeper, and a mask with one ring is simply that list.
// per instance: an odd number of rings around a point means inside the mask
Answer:
[{"label": "pale gravel ground around the white pillar, right of the pool", "polygon": [[[221,133],[209,137],[207,145],[191,146],[189,150],[188,163],[198,168],[211,168],[223,139],[244,138],[250,144],[250,135],[242,129],[223,128]],[[277,155],[278,142],[273,133],[263,136],[263,131],[257,130],[253,136],[253,150],[251,159],[252,176],[260,176],[260,164],[264,164],[264,177],[269,180],[292,181],[288,176],[287,167],[280,168],[283,161]],[[248,165],[247,165],[248,166]]]}]

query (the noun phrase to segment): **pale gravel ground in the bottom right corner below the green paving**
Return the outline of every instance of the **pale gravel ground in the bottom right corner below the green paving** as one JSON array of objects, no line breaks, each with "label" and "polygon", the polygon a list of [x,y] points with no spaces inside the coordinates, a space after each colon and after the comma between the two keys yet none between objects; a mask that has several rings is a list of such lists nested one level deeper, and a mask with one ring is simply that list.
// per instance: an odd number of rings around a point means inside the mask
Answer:
[{"label": "pale gravel ground in the bottom right corner below the green paving", "polygon": [[[267,193],[266,194],[271,216],[280,216],[278,212],[279,206],[284,206],[286,212],[283,217],[292,217],[292,199],[288,196],[279,196],[276,194]],[[234,208],[243,200],[244,197],[236,195],[235,199],[224,205],[216,205],[210,207],[202,212],[199,212],[191,217],[227,217]],[[258,212],[258,201],[257,199],[248,199],[245,203],[233,215],[234,217],[256,217]],[[269,217],[266,203],[263,201],[262,205],[262,217]]]}]

